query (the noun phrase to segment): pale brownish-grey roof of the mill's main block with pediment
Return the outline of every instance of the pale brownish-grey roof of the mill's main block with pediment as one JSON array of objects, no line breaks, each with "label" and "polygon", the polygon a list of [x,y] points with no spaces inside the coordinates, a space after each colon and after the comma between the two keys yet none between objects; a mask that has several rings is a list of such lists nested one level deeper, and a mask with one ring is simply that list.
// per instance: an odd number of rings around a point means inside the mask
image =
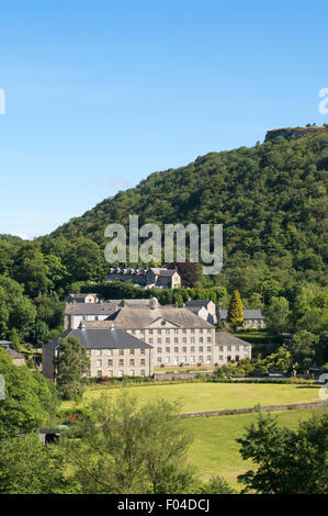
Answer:
[{"label": "pale brownish-grey roof of the mill's main block with pediment", "polygon": [[214,328],[213,324],[195,315],[189,309],[160,306],[158,309],[120,309],[105,321],[86,321],[86,327],[109,327],[114,322],[116,328],[144,329],[159,318],[180,328]]}]

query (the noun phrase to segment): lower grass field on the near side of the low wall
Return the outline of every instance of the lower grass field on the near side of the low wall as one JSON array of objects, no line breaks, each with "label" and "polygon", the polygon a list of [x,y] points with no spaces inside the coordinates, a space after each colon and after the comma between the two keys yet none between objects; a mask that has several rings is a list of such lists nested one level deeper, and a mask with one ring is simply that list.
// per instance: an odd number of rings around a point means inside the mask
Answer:
[{"label": "lower grass field on the near side of the low wall", "polygon": [[[296,428],[299,420],[312,414],[324,414],[327,407],[315,410],[297,410],[274,413],[282,426]],[[203,480],[219,474],[240,491],[237,483],[238,474],[252,468],[250,461],[244,461],[236,439],[244,435],[245,426],[255,422],[256,414],[238,414],[231,416],[196,417],[184,419],[183,424],[194,435],[189,450],[189,461],[196,468],[197,475]]]}]

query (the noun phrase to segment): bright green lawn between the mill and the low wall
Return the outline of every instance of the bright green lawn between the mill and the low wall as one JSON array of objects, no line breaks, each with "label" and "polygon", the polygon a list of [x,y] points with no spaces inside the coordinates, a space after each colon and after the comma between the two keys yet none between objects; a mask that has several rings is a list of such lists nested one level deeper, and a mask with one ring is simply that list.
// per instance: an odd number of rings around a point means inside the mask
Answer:
[{"label": "bright green lawn between the mill and the low wall", "polygon": [[[136,396],[140,403],[158,397],[170,402],[180,400],[183,413],[319,401],[319,388],[316,385],[236,382],[89,389],[83,394],[82,404],[86,405],[105,393],[117,396],[122,391]],[[72,406],[72,402],[63,403],[63,408]]]}]

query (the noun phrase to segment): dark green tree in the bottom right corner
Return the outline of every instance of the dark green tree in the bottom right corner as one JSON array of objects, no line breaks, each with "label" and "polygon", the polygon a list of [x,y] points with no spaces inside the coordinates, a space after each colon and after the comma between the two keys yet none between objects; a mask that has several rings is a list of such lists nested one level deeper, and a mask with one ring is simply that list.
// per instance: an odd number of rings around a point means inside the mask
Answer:
[{"label": "dark green tree in the bottom right corner", "polygon": [[238,476],[246,484],[245,492],[327,494],[327,414],[301,423],[296,430],[281,428],[276,418],[260,415],[237,442],[242,459],[257,467]]}]

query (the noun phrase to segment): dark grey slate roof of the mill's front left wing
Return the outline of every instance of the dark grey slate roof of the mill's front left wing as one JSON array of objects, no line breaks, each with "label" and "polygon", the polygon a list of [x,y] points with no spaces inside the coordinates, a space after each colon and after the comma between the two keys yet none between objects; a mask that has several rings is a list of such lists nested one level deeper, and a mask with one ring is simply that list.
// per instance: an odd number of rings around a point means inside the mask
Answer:
[{"label": "dark grey slate roof of the mill's front left wing", "polygon": [[44,348],[56,349],[59,338],[78,337],[87,349],[145,349],[151,348],[149,344],[134,337],[133,335],[116,328],[77,328],[67,329],[60,337],[46,344]]}]

